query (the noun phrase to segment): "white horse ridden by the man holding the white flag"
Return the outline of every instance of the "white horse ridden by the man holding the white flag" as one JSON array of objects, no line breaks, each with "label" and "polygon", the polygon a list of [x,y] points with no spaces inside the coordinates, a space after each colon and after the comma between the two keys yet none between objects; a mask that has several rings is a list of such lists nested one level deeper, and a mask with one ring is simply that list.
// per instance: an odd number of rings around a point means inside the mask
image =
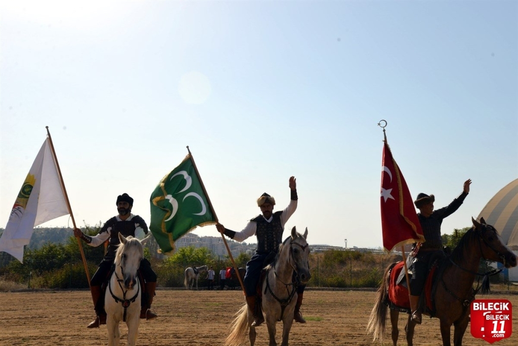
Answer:
[{"label": "white horse ridden by the man holding the white flag", "polygon": [[126,322],[128,327],[128,346],[135,346],[140,323],[140,299],[142,287],[138,281],[137,269],[144,257],[143,244],[150,236],[139,241],[127,239],[119,233],[121,241],[115,255],[115,271],[111,275],[106,289],[105,310],[108,329],[108,346],[119,346],[119,322]]}]

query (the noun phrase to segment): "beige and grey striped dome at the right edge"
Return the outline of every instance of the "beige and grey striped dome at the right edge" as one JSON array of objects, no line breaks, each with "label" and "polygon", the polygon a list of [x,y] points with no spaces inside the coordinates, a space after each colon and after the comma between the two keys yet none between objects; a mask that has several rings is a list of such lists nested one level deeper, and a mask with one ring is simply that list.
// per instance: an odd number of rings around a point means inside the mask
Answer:
[{"label": "beige and grey striped dome at the right edge", "polygon": [[[496,228],[502,242],[518,255],[518,179],[507,184],[487,202],[479,214],[479,219],[481,217]],[[518,281],[518,267],[508,269],[507,275],[509,281]]]}]

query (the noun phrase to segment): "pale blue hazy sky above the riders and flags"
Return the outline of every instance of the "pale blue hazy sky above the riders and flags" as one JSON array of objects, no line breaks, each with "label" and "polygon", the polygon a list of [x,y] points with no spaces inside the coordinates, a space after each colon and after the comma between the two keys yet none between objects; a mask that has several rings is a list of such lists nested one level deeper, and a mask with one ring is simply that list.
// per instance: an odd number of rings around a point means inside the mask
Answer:
[{"label": "pale blue hazy sky above the riders and flags", "polygon": [[0,227],[46,126],[78,227],[116,215],[123,192],[149,224],[189,146],[225,227],[244,228],[263,192],[284,209],[293,175],[287,230],[381,247],[382,119],[413,198],[437,209],[472,179],[443,233],[518,178],[516,1],[0,6]]}]

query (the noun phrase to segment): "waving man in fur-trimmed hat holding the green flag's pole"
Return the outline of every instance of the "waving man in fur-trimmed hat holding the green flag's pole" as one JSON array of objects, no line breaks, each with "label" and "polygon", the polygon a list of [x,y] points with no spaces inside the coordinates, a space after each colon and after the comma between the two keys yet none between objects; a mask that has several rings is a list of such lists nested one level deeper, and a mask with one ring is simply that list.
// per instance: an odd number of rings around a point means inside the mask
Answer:
[{"label": "waving man in fur-trimmed hat holding the green flag's pole", "polygon": [[[255,327],[260,326],[261,323],[264,322],[263,313],[260,311],[256,312],[255,310],[256,289],[261,271],[265,265],[267,265],[267,263],[265,263],[267,257],[268,259],[272,258],[272,256],[278,252],[279,244],[282,243],[284,225],[297,209],[297,183],[294,176],[290,177],[289,186],[291,200],[283,211],[273,213],[275,199],[265,192],[257,199],[257,205],[260,207],[262,215],[251,219],[242,231],[235,232],[229,230],[219,223],[216,225],[220,233],[238,242],[242,242],[254,234],[257,237],[257,248],[255,254],[247,263],[246,274],[243,280],[247,304],[254,314],[252,326]],[[304,285],[297,287],[298,298],[295,306],[294,320],[299,323],[306,323],[300,313],[305,287]],[[261,306],[259,305],[257,310],[260,310],[260,308]]]}]

